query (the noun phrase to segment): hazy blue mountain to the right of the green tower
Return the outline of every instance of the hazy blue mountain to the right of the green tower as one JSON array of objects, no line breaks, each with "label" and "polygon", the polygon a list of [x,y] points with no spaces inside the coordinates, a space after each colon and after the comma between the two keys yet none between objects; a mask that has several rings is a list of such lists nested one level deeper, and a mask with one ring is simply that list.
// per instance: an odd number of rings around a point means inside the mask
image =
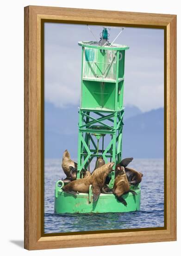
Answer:
[{"label": "hazy blue mountain to the right of the green tower", "polygon": [[159,108],[124,121],[123,157],[162,158],[164,154],[164,110]]}]

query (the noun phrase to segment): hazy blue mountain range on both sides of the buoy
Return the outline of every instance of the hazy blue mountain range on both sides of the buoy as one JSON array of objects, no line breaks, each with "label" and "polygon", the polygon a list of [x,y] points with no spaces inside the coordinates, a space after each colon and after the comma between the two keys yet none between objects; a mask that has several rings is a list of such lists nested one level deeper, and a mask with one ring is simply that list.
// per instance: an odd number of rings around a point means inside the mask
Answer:
[{"label": "hazy blue mountain range on both sides of the buoy", "polygon": [[[163,108],[140,113],[135,106],[125,108],[123,128],[123,157],[163,157]],[[62,158],[69,149],[77,157],[78,106],[56,108],[45,103],[44,111],[45,158]]]}]

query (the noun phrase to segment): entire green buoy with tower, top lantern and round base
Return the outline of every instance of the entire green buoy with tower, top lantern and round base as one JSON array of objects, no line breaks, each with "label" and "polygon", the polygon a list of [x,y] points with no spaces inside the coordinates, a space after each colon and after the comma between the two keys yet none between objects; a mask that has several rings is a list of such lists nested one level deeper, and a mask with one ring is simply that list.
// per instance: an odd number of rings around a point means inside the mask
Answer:
[{"label": "entire green buoy with tower, top lantern and round base", "polygon": [[[121,31],[122,32],[122,31]],[[120,33],[119,33],[120,34]],[[77,179],[81,170],[90,169],[94,158],[105,163],[115,162],[109,174],[110,189],[115,179],[115,166],[121,161],[123,132],[123,94],[126,45],[109,43],[107,27],[103,27],[100,41],[80,41],[81,46],[81,106],[78,122]],[[105,143],[106,142],[106,143]],[[105,213],[128,212],[140,209],[140,185],[131,186],[136,195],[127,193],[127,206],[113,194],[100,194],[93,202],[92,186],[89,193],[71,195],[62,190],[62,181],[56,182],[55,212]]]}]

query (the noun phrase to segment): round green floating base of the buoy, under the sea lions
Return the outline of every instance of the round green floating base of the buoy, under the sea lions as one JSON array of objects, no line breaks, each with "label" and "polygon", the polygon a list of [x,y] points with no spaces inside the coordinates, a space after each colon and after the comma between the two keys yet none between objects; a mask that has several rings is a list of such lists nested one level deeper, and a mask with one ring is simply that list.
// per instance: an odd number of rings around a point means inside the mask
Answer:
[{"label": "round green floating base of the buoy, under the sea lions", "polygon": [[[58,181],[61,182],[61,181]],[[131,192],[123,195],[127,206],[119,202],[113,194],[100,194],[97,202],[93,202],[92,190],[89,193],[80,193],[76,196],[62,191],[62,187],[56,182],[55,189],[55,213],[106,213],[106,212],[130,212],[140,210],[141,189],[140,186],[131,186],[137,195]]]}]

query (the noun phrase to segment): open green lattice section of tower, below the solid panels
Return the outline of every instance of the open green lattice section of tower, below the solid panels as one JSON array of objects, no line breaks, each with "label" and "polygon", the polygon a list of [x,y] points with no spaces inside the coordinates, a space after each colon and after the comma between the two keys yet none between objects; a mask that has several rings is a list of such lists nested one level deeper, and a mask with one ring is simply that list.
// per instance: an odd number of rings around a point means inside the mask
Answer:
[{"label": "open green lattice section of tower, below the solid panels", "polygon": [[[96,117],[93,117],[96,116]],[[119,111],[109,111],[100,113],[86,109],[79,110],[79,143],[78,143],[78,172],[77,178],[80,178],[80,171],[87,169],[94,157],[102,156],[107,163],[120,162],[122,150],[122,128],[123,128],[124,108]],[[109,124],[108,124],[109,123]],[[101,150],[93,139],[94,135],[111,135],[109,144]],[[92,142],[93,148],[90,147]],[[113,170],[115,165],[113,167]],[[114,171],[112,172],[112,183],[114,180]]]}]

